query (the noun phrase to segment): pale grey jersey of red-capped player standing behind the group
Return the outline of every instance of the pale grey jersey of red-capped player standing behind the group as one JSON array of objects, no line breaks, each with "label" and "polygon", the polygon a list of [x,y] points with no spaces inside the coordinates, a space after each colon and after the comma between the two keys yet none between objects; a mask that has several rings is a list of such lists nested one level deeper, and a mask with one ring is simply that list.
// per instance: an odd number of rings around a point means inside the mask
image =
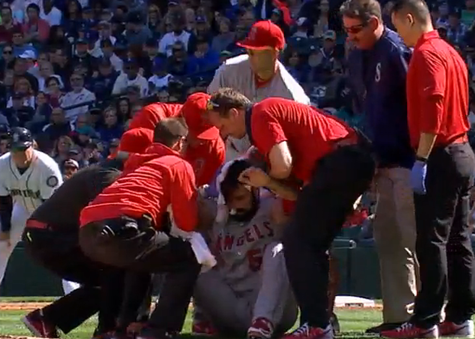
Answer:
[{"label": "pale grey jersey of red-capped player standing behind the group", "polygon": [[[310,105],[310,98],[305,94],[302,86],[279,61],[277,61],[277,73],[274,77],[263,86],[257,86],[256,75],[251,69],[247,54],[226,60],[216,70],[213,81],[208,86],[208,93],[212,94],[222,87],[239,91],[253,102],[259,102],[266,97],[283,97]],[[242,139],[228,137],[226,161],[243,155],[249,147],[250,142],[247,136]]]}]

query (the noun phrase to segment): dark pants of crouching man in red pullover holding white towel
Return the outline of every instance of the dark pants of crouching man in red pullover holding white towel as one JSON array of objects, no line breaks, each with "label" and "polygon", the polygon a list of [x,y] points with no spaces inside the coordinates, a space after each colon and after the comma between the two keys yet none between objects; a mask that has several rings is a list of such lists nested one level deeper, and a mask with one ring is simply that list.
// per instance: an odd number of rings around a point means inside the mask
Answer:
[{"label": "dark pants of crouching man in red pullover holding white towel", "polygon": [[[104,226],[120,231],[131,218],[117,218],[85,225],[80,230],[81,247],[95,260],[147,273],[167,273],[160,302],[152,312],[149,327],[180,332],[188,311],[200,265],[189,242],[169,237],[150,227],[123,236],[103,236]],[[120,232],[118,232],[120,233]]]}]

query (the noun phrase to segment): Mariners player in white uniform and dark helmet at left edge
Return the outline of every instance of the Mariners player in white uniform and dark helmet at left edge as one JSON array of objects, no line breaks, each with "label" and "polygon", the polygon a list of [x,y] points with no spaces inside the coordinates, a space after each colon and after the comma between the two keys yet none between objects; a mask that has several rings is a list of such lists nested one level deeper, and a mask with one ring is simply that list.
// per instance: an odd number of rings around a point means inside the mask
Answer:
[{"label": "Mariners player in white uniform and dark helmet at left edge", "polygon": [[56,161],[33,149],[28,129],[11,135],[11,150],[0,157],[0,283],[26,220],[63,183]]}]

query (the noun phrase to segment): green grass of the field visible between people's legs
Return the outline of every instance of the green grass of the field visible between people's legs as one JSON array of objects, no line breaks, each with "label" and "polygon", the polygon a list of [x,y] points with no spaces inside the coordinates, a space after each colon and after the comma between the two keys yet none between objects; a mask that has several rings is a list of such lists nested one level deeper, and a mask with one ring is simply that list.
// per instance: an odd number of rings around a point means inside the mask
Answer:
[{"label": "green grass of the field visible between people's legs", "polygon": [[[39,298],[16,298],[16,299],[6,299],[1,298],[2,301],[28,301],[28,302],[37,302]],[[47,301],[48,298],[42,298],[41,301]],[[28,313],[24,310],[1,310],[0,311],[0,336],[1,335],[13,335],[13,336],[31,336],[31,333],[26,329],[26,327],[21,323],[20,319],[23,315]],[[349,309],[349,308],[338,308],[335,312],[338,315],[340,320],[340,326],[342,329],[341,338],[345,339],[358,339],[358,338],[368,338],[363,334],[364,330],[373,325],[381,323],[381,311],[374,308],[361,308],[361,309]],[[96,326],[96,317],[92,317],[87,322],[83,323],[80,327],[69,333],[68,335],[62,336],[62,338],[70,339],[88,339],[91,338],[91,335]],[[193,338],[190,335],[191,331],[191,313],[188,314],[185,322],[185,326],[182,332],[182,337]]]}]

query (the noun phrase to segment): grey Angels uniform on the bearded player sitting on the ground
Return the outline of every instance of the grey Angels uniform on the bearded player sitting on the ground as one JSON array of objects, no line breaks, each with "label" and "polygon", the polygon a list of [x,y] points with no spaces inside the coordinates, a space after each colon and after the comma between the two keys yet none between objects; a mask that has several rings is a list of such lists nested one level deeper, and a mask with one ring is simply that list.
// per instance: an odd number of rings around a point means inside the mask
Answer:
[{"label": "grey Angels uniform on the bearded player sitting on the ground", "polygon": [[271,194],[262,195],[251,221],[213,225],[210,247],[218,263],[198,276],[194,300],[196,320],[209,320],[220,334],[246,335],[260,317],[280,332],[295,323],[297,306],[278,242],[281,227],[271,221],[274,202]]}]

